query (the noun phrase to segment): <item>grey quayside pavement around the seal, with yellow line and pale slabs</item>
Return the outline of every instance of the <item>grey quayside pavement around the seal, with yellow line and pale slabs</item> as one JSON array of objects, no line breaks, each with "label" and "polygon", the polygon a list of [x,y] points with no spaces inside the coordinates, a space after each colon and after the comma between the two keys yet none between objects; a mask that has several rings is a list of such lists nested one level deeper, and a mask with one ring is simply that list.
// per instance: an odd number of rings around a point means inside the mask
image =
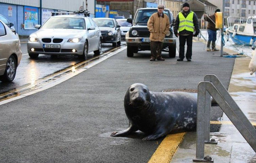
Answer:
[{"label": "grey quayside pavement around the seal, with yellow line and pale slabs", "polygon": [[[194,40],[191,62],[177,62],[177,56],[168,58],[167,53],[165,61],[150,62],[149,51],[127,57],[123,50],[52,88],[0,105],[1,162],[192,162],[195,132],[155,141],[142,141],[141,132],[110,134],[128,127],[123,99],[133,83],[143,83],[150,91],[196,90],[206,74],[215,74],[241,109],[246,108],[246,116],[255,120],[256,81],[248,70],[250,59],[220,57],[219,52],[203,51],[203,46]],[[210,120],[220,120],[222,113],[212,107]],[[225,115],[221,120],[228,121]],[[233,125],[219,127],[211,125],[211,136],[219,143],[207,145],[206,154],[215,162],[253,162],[254,151]],[[237,139],[229,139],[233,136]]]}]

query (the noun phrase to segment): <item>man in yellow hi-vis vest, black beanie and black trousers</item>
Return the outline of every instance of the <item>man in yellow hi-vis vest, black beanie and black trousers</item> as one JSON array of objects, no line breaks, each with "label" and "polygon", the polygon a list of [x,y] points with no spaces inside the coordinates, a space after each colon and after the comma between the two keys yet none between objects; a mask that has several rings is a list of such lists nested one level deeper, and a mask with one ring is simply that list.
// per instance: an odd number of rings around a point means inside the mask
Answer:
[{"label": "man in yellow hi-vis vest, black beanie and black trousers", "polygon": [[[185,53],[185,44],[187,41],[187,52],[186,58],[187,61],[191,61],[192,56],[192,38],[193,36],[197,36],[200,32],[199,30],[199,22],[196,16],[196,13],[190,11],[190,5],[188,3],[184,3],[182,5],[182,11],[178,13],[175,24],[174,24],[174,34],[176,37],[180,36],[180,54],[177,61],[183,61],[184,53]],[[193,35],[194,28],[196,29],[196,33]],[[179,33],[178,33],[179,31]]]}]

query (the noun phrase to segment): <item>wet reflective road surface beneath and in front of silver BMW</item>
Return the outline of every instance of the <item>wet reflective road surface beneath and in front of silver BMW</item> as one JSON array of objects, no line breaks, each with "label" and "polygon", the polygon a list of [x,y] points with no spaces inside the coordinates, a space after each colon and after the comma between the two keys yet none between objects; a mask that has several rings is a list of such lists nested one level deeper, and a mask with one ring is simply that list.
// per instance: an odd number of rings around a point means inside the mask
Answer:
[{"label": "wet reflective road surface beneath and in front of silver BMW", "polygon": [[[121,45],[126,44],[122,41]],[[112,44],[102,44],[102,53],[113,49]],[[52,58],[50,55],[39,55],[37,59],[28,56],[27,44],[21,44],[22,59],[17,68],[16,77],[11,83],[0,82],[0,96],[12,90],[17,90],[24,86],[31,85],[42,78],[48,77],[65,68],[74,66],[81,62],[77,56],[65,55]],[[89,59],[94,57],[94,53],[88,54]]]}]

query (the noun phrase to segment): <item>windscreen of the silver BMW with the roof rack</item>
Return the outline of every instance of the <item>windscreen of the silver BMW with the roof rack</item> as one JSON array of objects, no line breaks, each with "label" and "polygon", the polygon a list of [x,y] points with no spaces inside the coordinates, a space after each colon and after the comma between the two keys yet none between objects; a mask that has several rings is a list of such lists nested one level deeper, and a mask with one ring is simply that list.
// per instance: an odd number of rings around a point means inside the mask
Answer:
[{"label": "windscreen of the silver BMW with the roof rack", "polygon": [[51,17],[42,28],[85,29],[83,18]]}]

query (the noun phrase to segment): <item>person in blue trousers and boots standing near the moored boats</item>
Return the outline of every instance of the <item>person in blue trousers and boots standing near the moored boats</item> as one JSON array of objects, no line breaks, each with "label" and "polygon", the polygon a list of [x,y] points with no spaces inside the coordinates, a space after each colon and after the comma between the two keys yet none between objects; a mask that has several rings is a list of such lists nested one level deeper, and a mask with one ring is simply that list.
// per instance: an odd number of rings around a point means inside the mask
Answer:
[{"label": "person in blue trousers and boots standing near the moored boats", "polygon": [[210,43],[212,41],[212,51],[218,51],[216,49],[215,41],[217,40],[217,28],[215,28],[215,16],[216,12],[220,12],[220,9],[215,10],[213,15],[206,15],[204,14],[204,20],[208,22],[207,24],[207,33],[208,33],[208,42],[207,42],[207,50],[206,51],[211,51],[210,50]]}]

